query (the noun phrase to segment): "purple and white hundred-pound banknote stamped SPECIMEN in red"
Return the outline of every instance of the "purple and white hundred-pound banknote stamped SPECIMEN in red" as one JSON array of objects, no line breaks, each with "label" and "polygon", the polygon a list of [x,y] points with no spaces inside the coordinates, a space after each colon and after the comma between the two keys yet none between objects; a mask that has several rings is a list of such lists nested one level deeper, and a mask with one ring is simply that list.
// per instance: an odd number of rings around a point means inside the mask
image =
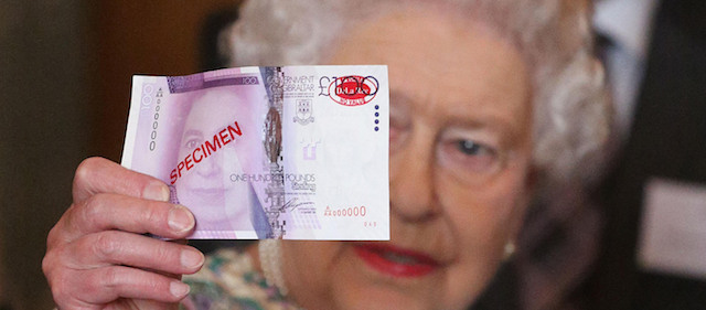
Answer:
[{"label": "purple and white hundred-pound banknote stamped SPECIMEN in red", "polygon": [[132,78],[122,165],[164,181],[190,238],[389,239],[387,67]]}]

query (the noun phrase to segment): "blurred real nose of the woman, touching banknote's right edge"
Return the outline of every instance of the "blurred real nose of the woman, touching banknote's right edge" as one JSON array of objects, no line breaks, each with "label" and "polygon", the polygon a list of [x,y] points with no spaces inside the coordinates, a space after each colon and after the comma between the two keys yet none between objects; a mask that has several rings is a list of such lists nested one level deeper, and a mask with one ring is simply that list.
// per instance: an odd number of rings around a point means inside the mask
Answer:
[{"label": "blurred real nose of the woman, touching banknote's right edge", "polygon": [[439,213],[434,141],[408,142],[389,158],[391,212],[407,222],[427,221]]}]

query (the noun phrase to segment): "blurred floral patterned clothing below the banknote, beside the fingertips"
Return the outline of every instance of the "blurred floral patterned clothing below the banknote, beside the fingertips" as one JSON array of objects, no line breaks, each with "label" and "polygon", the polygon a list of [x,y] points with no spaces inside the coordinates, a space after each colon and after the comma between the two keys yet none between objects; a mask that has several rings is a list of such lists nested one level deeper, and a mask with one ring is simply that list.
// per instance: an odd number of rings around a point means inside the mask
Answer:
[{"label": "blurred floral patterned clothing below the banknote, beside the fingertips", "polygon": [[183,281],[191,292],[182,310],[302,310],[267,284],[247,254],[235,249],[207,256],[201,271],[184,276]]}]

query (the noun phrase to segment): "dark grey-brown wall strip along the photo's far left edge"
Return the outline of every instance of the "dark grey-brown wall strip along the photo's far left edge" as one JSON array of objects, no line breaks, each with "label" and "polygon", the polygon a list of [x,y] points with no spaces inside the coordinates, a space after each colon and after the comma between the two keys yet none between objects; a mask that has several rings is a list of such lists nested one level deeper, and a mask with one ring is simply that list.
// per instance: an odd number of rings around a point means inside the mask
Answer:
[{"label": "dark grey-brown wall strip along the photo's far left edge", "polygon": [[0,248],[13,309],[53,307],[41,259],[86,154],[86,17],[77,1],[0,3]]}]

